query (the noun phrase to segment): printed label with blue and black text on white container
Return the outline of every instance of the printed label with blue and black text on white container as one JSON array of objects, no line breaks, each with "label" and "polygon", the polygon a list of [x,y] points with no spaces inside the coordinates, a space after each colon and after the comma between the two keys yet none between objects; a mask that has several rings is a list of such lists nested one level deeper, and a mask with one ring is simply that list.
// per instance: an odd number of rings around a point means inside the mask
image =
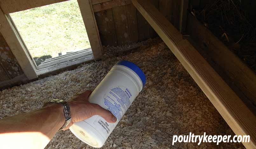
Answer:
[{"label": "printed label with blue and black text on white container", "polygon": [[[131,97],[132,94],[128,88],[123,86],[113,87],[107,91],[104,96],[104,107],[114,114],[117,121],[120,121],[131,105]],[[108,137],[109,133],[111,133],[115,127],[113,123],[108,123],[100,116],[93,122],[93,124],[100,129],[99,132],[102,132],[102,135],[105,138]]]}]

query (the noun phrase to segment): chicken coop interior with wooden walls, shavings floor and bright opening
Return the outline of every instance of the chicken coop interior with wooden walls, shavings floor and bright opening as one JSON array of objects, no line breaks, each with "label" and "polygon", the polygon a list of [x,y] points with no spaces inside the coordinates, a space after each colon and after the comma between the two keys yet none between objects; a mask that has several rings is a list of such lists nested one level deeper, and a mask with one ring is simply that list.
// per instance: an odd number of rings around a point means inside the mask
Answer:
[{"label": "chicken coop interior with wooden walls, shavings floor and bright opening", "polygon": [[[114,64],[146,85],[102,148],[256,148],[256,1],[0,0],[0,118],[94,90]],[[173,135],[250,135],[176,143]],[[48,149],[93,148],[70,130]]]}]

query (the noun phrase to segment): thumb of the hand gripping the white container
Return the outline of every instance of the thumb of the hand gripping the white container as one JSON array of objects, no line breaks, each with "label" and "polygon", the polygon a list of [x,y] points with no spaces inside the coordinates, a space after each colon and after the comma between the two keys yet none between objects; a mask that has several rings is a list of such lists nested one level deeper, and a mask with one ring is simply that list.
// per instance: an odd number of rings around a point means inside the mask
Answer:
[{"label": "thumb of the hand gripping the white container", "polygon": [[107,122],[109,123],[114,123],[116,122],[116,117],[108,110],[100,107],[97,104],[93,104],[94,108],[91,109],[92,110],[92,114],[93,115],[100,115],[101,117],[103,117],[105,120],[107,120]]}]

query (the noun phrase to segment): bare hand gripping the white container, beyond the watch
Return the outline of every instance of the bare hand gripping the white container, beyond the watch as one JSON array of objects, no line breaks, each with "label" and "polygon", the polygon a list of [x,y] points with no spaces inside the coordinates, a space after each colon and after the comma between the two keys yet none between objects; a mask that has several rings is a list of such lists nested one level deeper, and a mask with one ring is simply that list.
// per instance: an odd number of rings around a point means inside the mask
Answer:
[{"label": "bare hand gripping the white container, beyond the watch", "polygon": [[87,90],[68,101],[72,120],[63,130],[69,129],[73,123],[88,119],[93,115],[100,115],[109,123],[116,122],[115,116],[110,111],[88,101],[91,93],[92,91]]}]

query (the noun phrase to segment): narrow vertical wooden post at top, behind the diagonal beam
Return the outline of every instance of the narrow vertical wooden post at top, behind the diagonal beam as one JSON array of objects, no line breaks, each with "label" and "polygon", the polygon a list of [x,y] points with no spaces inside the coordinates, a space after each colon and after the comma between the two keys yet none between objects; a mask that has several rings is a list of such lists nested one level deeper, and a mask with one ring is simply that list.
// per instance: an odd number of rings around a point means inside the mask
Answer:
[{"label": "narrow vertical wooden post at top, behind the diagonal beam", "polygon": [[181,0],[179,30],[182,34],[186,32],[188,9],[189,9],[189,0]]}]

